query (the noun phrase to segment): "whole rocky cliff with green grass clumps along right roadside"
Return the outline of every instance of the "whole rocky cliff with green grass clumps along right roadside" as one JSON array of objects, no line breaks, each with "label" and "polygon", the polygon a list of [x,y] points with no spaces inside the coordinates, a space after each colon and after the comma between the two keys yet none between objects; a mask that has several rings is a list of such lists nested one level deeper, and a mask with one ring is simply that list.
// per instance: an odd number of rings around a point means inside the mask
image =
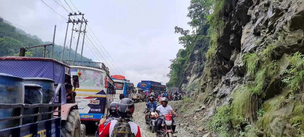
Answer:
[{"label": "whole rocky cliff with green grass clumps along right roadside", "polygon": [[214,58],[199,70],[194,48],[181,83],[198,80],[189,115],[214,136],[302,135],[304,1],[226,0],[219,18]]}]

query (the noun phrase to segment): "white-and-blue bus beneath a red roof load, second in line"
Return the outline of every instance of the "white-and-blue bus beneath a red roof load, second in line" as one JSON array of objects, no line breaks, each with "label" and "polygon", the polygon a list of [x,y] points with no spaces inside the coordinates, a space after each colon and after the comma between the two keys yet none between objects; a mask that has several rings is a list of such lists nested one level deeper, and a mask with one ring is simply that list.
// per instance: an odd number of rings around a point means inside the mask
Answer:
[{"label": "white-and-blue bus beneath a red roof load, second in line", "polygon": [[112,78],[116,88],[116,95],[113,97],[113,100],[119,100],[119,95],[124,94],[125,98],[130,98],[133,100],[134,84],[129,80],[117,80]]}]

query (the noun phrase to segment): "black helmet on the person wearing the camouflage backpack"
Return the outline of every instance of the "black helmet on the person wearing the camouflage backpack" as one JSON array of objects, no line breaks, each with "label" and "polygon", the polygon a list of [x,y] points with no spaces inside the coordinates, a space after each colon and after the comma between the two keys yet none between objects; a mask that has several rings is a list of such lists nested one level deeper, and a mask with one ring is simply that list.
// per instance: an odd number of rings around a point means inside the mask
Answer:
[{"label": "black helmet on the person wearing the camouflage backpack", "polygon": [[123,98],[118,102],[118,115],[123,118],[132,117],[134,102],[130,98]]}]

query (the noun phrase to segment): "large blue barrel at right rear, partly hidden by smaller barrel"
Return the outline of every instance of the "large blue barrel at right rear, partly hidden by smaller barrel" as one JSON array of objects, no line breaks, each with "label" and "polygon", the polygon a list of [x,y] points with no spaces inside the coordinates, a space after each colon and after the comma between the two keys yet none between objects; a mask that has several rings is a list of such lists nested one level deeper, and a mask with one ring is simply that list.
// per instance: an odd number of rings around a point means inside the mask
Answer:
[{"label": "large blue barrel at right rear, partly hidden by smaller barrel", "polygon": [[[55,96],[54,80],[42,77],[25,77],[25,84],[38,84],[42,86],[42,103],[49,104]],[[48,108],[40,108],[40,113],[48,112]],[[48,115],[42,115],[41,120],[48,119]]]}]

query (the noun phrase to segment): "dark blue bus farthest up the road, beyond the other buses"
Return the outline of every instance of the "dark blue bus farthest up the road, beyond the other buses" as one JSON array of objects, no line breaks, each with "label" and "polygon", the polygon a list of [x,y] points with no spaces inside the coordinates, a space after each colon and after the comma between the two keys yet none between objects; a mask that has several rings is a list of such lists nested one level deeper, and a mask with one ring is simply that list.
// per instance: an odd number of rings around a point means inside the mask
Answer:
[{"label": "dark blue bus farthest up the road, beyond the other buses", "polygon": [[162,85],[160,82],[155,81],[141,80],[141,82],[137,84],[137,87],[141,88],[143,90],[143,93],[151,93],[151,91],[154,91],[156,98],[161,94],[161,92],[166,92],[166,86]]}]

